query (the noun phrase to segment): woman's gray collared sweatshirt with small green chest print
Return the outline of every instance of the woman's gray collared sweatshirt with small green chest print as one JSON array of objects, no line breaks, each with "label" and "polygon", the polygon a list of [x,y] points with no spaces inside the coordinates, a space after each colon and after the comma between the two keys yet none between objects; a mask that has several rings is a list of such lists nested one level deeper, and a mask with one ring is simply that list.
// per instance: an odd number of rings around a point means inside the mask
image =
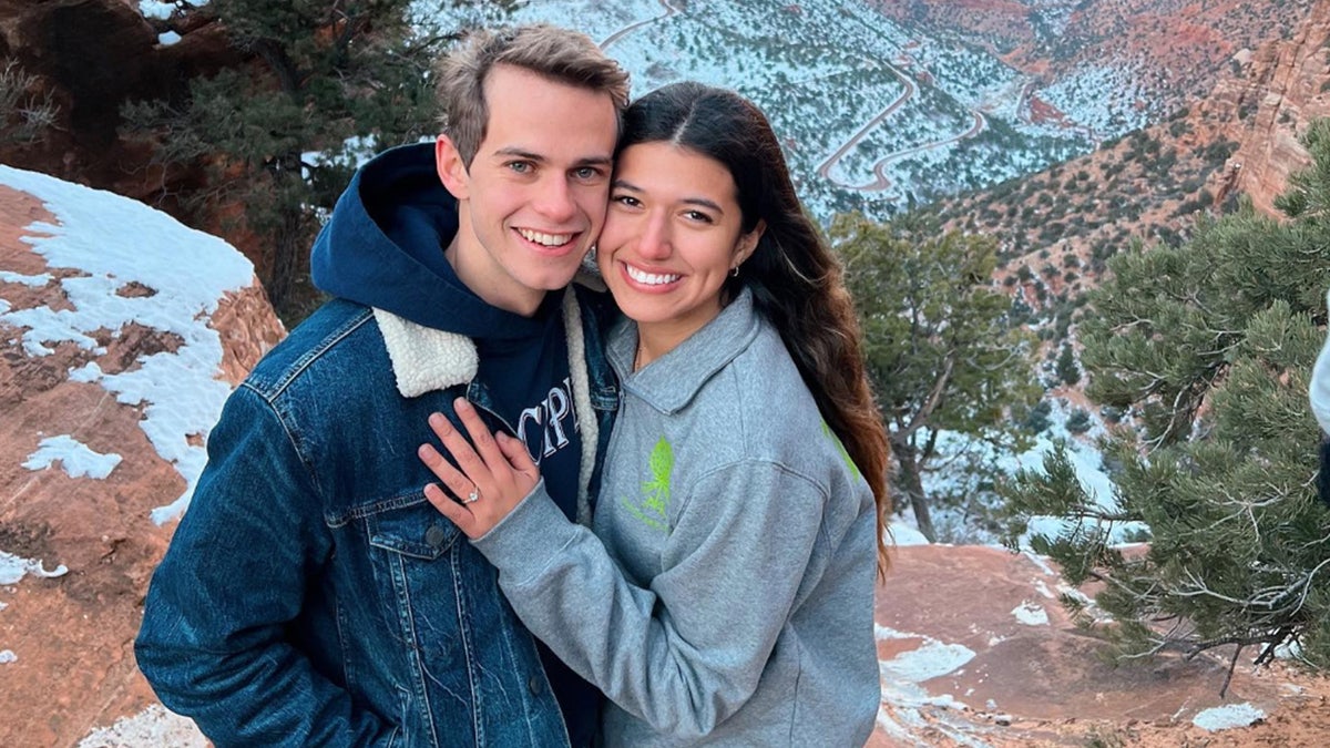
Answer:
[{"label": "woman's gray collared sweatshirt with small green chest print", "polygon": [[475,546],[521,620],[609,697],[608,745],[862,745],[880,703],[876,515],[743,291],[632,371],[593,530],[539,484]]}]

